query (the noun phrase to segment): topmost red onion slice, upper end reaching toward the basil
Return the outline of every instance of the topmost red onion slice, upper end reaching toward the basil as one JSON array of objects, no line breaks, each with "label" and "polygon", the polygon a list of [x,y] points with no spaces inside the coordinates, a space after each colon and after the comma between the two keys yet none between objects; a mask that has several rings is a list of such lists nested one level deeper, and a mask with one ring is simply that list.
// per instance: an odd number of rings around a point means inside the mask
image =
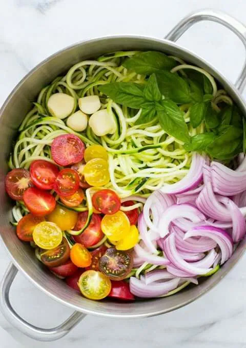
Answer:
[{"label": "topmost red onion slice, upper end reaching toward the basil", "polygon": [[166,185],[161,188],[163,193],[178,194],[194,189],[202,181],[202,167],[207,161],[206,158],[193,153],[191,167],[188,174],[172,185]]}]

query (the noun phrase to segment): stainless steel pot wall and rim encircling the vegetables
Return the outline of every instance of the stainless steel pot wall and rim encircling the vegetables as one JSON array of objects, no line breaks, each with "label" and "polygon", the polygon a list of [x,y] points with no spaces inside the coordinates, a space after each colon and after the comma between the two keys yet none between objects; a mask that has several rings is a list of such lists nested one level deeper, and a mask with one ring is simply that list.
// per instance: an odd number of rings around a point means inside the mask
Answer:
[{"label": "stainless steel pot wall and rim encircling the vegetables", "polygon": [[178,56],[187,62],[207,69],[226,89],[246,116],[246,108],[240,95],[232,84],[223,78],[208,63],[190,51],[166,41],[138,36],[112,36],[76,44],[48,58],[34,68],[13,90],[0,112],[0,235],[13,263],[22,270],[38,288],[57,301],[80,312],[108,317],[146,317],[167,313],[194,301],[216,285],[241,257],[246,239],[238,246],[232,258],[212,277],[204,279],[198,286],[190,286],[176,295],[167,298],[141,300],[134,303],[118,303],[109,300],[100,302],[87,300],[70,289],[65,282],[55,278],[34,257],[29,245],[19,241],[12,219],[12,203],[5,193],[4,177],[8,171],[7,159],[11,152],[16,130],[31,108],[38,92],[55,77],[66,72],[73,64],[96,58],[116,50],[157,50]]}]

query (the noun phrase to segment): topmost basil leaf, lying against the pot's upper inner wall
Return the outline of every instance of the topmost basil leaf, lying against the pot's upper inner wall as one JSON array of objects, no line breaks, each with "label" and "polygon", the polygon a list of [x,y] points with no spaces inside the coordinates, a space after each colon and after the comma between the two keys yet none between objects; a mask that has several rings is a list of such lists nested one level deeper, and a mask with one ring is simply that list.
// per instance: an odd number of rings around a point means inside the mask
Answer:
[{"label": "topmost basil leaf, lying against the pot's upper inner wall", "polygon": [[122,65],[127,69],[136,71],[137,74],[151,75],[157,70],[171,70],[177,64],[165,53],[147,51],[135,54]]}]

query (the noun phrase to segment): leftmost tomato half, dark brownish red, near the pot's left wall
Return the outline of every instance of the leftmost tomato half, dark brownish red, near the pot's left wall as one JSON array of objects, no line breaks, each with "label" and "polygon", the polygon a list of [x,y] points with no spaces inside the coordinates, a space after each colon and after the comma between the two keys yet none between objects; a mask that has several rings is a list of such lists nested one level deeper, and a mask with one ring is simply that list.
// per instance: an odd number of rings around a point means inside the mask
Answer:
[{"label": "leftmost tomato half, dark brownish red, near the pot's left wall", "polygon": [[5,178],[5,188],[14,200],[23,199],[24,192],[32,186],[28,170],[16,168],[11,170]]}]

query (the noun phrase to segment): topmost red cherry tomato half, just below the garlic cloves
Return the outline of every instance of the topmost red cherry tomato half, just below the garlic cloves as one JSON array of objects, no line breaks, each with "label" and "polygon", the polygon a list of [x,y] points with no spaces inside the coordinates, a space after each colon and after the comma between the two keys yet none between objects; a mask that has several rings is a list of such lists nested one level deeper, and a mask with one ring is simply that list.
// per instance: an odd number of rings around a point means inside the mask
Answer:
[{"label": "topmost red cherry tomato half, just below the garlic cloves", "polygon": [[51,156],[59,166],[69,166],[84,158],[85,144],[74,134],[59,135],[51,145]]}]

